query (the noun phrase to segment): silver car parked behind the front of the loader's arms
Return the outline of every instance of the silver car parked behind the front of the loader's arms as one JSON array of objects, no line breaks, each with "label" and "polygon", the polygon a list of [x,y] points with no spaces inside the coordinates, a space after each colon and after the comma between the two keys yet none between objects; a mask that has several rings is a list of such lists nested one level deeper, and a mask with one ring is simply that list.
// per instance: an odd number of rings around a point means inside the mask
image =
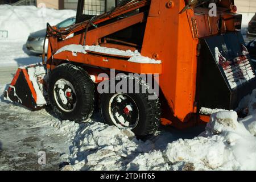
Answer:
[{"label": "silver car parked behind the front of the loader's arms", "polygon": [[[76,17],[71,17],[68,19],[65,19],[63,22],[60,22],[56,24],[57,28],[62,28],[62,27],[68,27],[71,26],[72,24],[75,24],[76,22]],[[43,44],[44,44],[44,38],[46,37],[46,29],[36,31],[30,36],[28,36],[27,43],[26,43],[26,48],[28,51],[36,54],[42,54],[43,53]],[[47,44],[48,40],[46,42],[46,49],[45,52],[47,53]]]}]

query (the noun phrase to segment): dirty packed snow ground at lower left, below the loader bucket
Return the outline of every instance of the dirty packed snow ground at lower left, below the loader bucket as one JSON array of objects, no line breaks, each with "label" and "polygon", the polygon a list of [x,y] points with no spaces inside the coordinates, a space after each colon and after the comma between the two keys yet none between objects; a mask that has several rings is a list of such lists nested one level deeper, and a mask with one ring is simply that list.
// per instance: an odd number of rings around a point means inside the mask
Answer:
[{"label": "dirty packed snow ground at lower left, below the loader bucket", "polygon": [[[0,72],[2,74],[2,72]],[[2,75],[1,75],[2,76]],[[6,85],[0,84],[0,93]],[[72,145],[72,122],[61,122],[46,110],[30,111],[19,104],[0,100],[0,171],[59,170]],[[59,129],[61,125],[61,130]],[[63,134],[65,134],[63,136]],[[45,151],[47,165],[38,164],[38,152]]]}]

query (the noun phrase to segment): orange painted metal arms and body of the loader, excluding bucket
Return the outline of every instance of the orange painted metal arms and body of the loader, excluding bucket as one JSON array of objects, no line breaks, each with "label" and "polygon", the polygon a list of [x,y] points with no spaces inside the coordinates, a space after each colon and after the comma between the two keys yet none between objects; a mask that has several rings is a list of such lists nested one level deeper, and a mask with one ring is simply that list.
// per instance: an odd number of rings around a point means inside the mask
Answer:
[{"label": "orange painted metal arms and body of the loader, excluding bucket", "polygon": [[[159,86],[163,93],[162,102],[166,103],[162,106],[162,121],[165,125],[172,124],[183,128],[195,125],[200,121],[209,121],[209,118],[197,114],[195,104],[197,45],[199,38],[217,35],[220,32],[217,28],[219,14],[217,17],[209,18],[205,13],[206,10],[201,10],[203,11],[201,14],[199,12],[195,14],[195,10],[192,9],[180,13],[185,7],[185,1],[181,0],[142,0],[129,2],[126,6],[118,7],[110,14],[100,15],[92,23],[95,26],[149,5],[149,12],[140,11],[140,13],[128,18],[115,20],[112,23],[89,30],[86,32],[85,44],[88,46],[98,45],[99,40],[105,36],[135,24],[146,22],[141,54],[159,59],[162,64],[131,63],[123,57],[96,55],[95,53],[77,53],[77,56],[73,56],[72,52],[64,51],[54,55],[61,47],[70,44],[82,44],[85,33],[80,32],[79,35],[75,35],[73,38],[58,41],[55,37],[57,32],[48,30],[50,33],[47,68],[54,69],[58,61],[59,64],[61,61],[72,61],[84,64],[89,73],[94,69],[90,67],[113,68],[131,73],[158,73],[160,75]],[[231,21],[231,26],[232,23],[236,22]],[[63,31],[61,38],[85,30],[88,26],[90,24],[86,21],[76,24],[75,28],[71,28],[72,31],[61,29],[60,31]],[[124,46],[118,44],[116,47],[114,44],[109,44],[109,46],[125,49]],[[93,75],[97,77],[97,71]]]}]

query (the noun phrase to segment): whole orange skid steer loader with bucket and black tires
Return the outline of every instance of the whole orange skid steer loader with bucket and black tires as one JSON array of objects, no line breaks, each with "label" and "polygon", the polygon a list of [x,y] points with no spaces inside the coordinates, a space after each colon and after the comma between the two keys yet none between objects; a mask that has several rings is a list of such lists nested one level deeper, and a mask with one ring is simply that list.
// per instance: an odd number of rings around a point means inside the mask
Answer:
[{"label": "whole orange skid steer loader with bucket and black tires", "polygon": [[[47,24],[47,59],[20,68],[6,95],[77,122],[99,102],[105,123],[137,136],[154,134],[161,122],[180,129],[208,122],[211,109],[235,110],[256,88],[236,11],[233,0],[80,0],[76,24]],[[121,88],[146,92],[113,90],[121,80],[137,84]]]}]

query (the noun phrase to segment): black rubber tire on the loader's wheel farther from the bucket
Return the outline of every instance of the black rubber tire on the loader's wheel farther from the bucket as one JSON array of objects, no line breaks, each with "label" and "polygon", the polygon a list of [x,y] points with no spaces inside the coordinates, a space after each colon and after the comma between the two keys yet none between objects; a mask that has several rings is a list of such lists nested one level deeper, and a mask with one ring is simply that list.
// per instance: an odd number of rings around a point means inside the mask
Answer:
[{"label": "black rubber tire on the loader's wheel farther from the bucket", "polygon": [[[145,83],[138,78],[134,77],[133,79],[135,81],[138,81],[141,86],[145,85]],[[117,84],[117,81],[115,81],[115,84]],[[100,95],[101,116],[104,119],[105,123],[110,126],[115,126],[112,119],[110,118],[109,113],[109,103],[114,95],[115,94],[105,93]],[[155,134],[156,131],[158,131],[161,119],[161,106],[159,98],[157,98],[156,100],[148,100],[148,96],[150,96],[148,92],[145,94],[140,93],[127,95],[133,98],[133,100],[137,104],[140,115],[138,125],[131,131],[133,131],[133,133],[137,137],[147,137],[149,135]]]}]

